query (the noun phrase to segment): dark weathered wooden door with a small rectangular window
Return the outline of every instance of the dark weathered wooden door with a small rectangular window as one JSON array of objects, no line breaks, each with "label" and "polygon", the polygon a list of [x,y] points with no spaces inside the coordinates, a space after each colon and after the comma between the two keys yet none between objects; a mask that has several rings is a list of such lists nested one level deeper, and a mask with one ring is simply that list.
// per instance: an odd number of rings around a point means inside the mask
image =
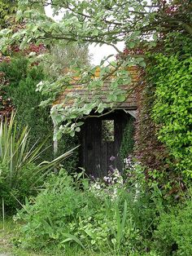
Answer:
[{"label": "dark weathered wooden door with a small rectangular window", "polygon": [[[107,175],[110,166],[121,169],[120,143],[128,118],[127,114],[118,111],[106,117],[86,119],[80,137],[80,164],[87,174],[97,178]],[[111,157],[115,160],[111,161]]]}]

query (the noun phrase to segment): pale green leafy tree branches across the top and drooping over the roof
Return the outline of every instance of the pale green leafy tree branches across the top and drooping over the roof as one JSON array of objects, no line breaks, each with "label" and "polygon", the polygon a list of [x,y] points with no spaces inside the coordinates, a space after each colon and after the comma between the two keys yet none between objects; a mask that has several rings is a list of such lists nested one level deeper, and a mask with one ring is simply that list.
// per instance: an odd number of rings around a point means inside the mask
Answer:
[{"label": "pale green leafy tree branches across the top and drooping over the roof", "polygon": [[[48,18],[43,8],[44,5],[50,5],[53,8],[55,17],[62,10],[64,14],[61,20],[58,22],[58,20]],[[147,48],[151,49],[161,38],[162,33],[172,30],[191,34],[192,30],[190,0],[177,2],[153,0],[150,4],[146,1],[132,0],[118,0],[110,3],[103,0],[99,2],[20,0],[19,6],[17,19],[25,19],[26,25],[12,37],[11,29],[2,30],[3,51],[6,50],[10,42],[22,40],[20,43],[22,49],[35,39],[37,44],[43,42],[49,46],[53,42],[107,44],[116,49],[120,56],[117,62],[112,61],[105,67],[103,67],[103,63],[107,64],[108,59],[101,62],[99,78],[94,77],[94,72],[98,67],[77,68],[75,64],[71,69],[73,72],[68,72],[54,82],[45,81],[39,84],[39,90],[48,98],[45,104],[50,103],[57,93],[63,90],[63,85],[70,86],[73,77],[80,77],[78,83],[85,85],[87,90],[93,92],[94,97],[91,103],[87,102],[86,96],[77,97],[70,111],[68,108],[63,110],[62,105],[52,109],[52,117],[59,124],[58,139],[61,137],[61,133],[74,135],[75,131],[80,130],[81,122],[78,119],[89,115],[93,109],[95,112],[103,113],[104,108],[116,108],[117,103],[124,101],[124,91],[120,90],[119,85],[127,85],[131,80],[124,67],[134,64],[145,67],[143,55],[124,55],[124,52],[116,46],[117,42],[124,42],[128,50],[139,48],[140,42],[142,42],[142,46],[147,45]],[[95,13],[97,15],[94,15]],[[114,69],[111,70],[109,66]],[[103,87],[103,83],[111,76],[113,77],[111,93],[107,95],[107,104],[105,104],[98,94],[102,91],[100,89]],[[50,87],[53,98],[50,97]],[[129,90],[132,89],[129,88]],[[63,121],[65,121],[64,126]]]}]

